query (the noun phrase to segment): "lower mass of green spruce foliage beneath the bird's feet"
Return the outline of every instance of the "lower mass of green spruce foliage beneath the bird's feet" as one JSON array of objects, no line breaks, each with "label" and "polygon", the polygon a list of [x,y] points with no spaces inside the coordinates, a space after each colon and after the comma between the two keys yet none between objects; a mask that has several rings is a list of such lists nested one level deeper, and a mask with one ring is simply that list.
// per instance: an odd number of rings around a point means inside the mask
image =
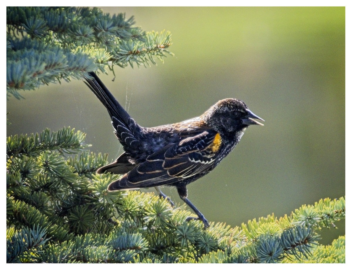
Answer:
[{"label": "lower mass of green spruce foliage beneath the bird's feet", "polygon": [[119,176],[95,174],[107,156],[84,150],[84,136],[64,128],[7,138],[7,262],[344,262],[345,238],[321,246],[317,234],[345,218],[343,197],[204,230],[185,221],[192,215],[185,205],[173,208],[154,193],[107,192]]}]

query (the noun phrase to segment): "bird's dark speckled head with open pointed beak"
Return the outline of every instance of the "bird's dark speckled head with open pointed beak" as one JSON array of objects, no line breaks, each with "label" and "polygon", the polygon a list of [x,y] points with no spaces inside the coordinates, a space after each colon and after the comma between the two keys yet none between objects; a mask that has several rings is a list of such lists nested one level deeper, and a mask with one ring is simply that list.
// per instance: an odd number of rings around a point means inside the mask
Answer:
[{"label": "bird's dark speckled head with open pointed beak", "polygon": [[264,126],[256,121],[264,121],[250,111],[247,105],[235,98],[226,98],[216,102],[204,114],[204,121],[209,127],[223,135],[235,135],[250,125]]}]

